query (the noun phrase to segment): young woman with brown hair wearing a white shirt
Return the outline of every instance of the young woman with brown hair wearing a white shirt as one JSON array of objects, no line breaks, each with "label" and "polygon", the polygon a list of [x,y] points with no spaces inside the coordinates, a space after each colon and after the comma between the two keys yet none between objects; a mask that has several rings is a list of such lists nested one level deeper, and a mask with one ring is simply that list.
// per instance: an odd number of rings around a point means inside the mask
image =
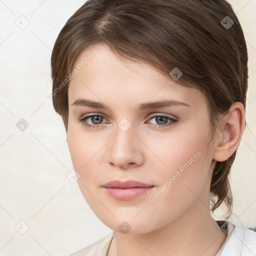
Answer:
[{"label": "young woman with brown hair wearing a white shirt", "polygon": [[211,215],[231,213],[245,126],[247,49],[230,4],[88,0],[51,71],[78,185],[113,229],[72,255],[256,253],[256,233]]}]

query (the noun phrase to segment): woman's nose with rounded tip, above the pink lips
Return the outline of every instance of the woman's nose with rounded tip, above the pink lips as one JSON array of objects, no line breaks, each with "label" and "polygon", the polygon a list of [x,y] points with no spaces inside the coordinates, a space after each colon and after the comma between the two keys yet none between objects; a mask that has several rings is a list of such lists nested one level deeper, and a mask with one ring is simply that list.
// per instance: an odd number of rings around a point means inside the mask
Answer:
[{"label": "woman's nose with rounded tip, above the pink lips", "polygon": [[131,126],[126,131],[116,128],[116,134],[109,141],[109,163],[121,169],[140,166],[144,161],[143,143]]}]

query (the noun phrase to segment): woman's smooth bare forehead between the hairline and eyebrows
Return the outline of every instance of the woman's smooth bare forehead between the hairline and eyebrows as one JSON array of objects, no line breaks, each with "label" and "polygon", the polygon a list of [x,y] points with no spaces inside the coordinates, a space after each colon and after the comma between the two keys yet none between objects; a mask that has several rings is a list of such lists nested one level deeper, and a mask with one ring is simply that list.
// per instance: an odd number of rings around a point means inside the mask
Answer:
[{"label": "woman's smooth bare forehead between the hairline and eyebrows", "polygon": [[145,63],[120,58],[106,44],[83,49],[73,68],[77,73],[69,82],[69,104],[82,97],[121,104],[174,99],[201,107],[206,102],[198,89],[182,86]]}]

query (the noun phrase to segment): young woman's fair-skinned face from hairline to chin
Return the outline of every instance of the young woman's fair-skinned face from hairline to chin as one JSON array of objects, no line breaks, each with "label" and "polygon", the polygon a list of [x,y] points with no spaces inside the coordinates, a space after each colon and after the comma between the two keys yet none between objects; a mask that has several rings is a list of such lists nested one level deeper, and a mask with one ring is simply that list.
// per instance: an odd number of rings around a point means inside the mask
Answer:
[{"label": "young woman's fair-skinned face from hairline to chin", "polygon": [[[148,65],[120,61],[105,44],[84,49],[74,68],[67,143],[98,218],[111,229],[141,233],[207,209],[213,147],[204,95]],[[170,102],[149,104],[160,101]],[[151,188],[103,187],[111,180]]]}]

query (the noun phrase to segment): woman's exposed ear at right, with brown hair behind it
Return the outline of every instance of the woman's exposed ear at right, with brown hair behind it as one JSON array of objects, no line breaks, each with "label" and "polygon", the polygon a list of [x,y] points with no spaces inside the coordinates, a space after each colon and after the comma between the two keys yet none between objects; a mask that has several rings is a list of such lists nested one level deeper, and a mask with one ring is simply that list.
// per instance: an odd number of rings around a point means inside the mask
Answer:
[{"label": "woman's exposed ear at right, with brown hair behind it", "polygon": [[228,113],[220,120],[217,133],[216,146],[213,151],[213,159],[225,161],[238,147],[245,125],[245,112],[241,102],[234,102],[229,107]]}]

